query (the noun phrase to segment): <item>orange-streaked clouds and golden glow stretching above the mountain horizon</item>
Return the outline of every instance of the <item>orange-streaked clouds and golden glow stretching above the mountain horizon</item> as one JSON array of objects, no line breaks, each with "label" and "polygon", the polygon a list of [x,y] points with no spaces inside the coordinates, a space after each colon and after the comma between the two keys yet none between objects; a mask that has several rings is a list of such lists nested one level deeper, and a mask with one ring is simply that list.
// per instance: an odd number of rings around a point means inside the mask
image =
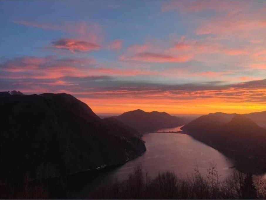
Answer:
[{"label": "orange-streaked clouds and golden glow stretching above the mountain horizon", "polygon": [[[106,113],[107,108],[110,113],[140,108],[172,114],[247,113],[266,109],[265,80],[226,86],[209,83],[201,86],[108,88],[74,95],[98,113]],[[110,99],[113,99],[113,103],[110,103]]]}]

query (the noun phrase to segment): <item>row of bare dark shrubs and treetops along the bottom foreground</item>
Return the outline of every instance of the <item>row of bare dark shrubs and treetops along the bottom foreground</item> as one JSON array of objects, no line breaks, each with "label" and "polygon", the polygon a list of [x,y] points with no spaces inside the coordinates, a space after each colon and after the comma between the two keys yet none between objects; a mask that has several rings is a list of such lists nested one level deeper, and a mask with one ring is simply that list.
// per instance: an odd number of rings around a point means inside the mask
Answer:
[{"label": "row of bare dark shrubs and treetops along the bottom foreground", "polygon": [[225,180],[220,180],[216,165],[210,163],[206,177],[197,166],[186,178],[174,172],[160,172],[155,177],[143,173],[142,166],[134,168],[123,182],[116,182],[94,192],[95,199],[256,199],[266,197],[266,180],[253,182],[251,174],[234,170]]}]

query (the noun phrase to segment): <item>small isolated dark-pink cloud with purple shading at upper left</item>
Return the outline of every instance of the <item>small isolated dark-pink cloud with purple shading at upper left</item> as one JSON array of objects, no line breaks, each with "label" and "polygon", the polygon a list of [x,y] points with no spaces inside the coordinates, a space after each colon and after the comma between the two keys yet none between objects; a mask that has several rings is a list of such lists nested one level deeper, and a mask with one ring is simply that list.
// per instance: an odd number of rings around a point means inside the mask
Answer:
[{"label": "small isolated dark-pink cloud with purple shading at upper left", "polygon": [[52,42],[52,47],[58,48],[58,49],[68,49],[72,53],[74,52],[88,52],[88,51],[96,51],[101,48],[100,45],[86,42],[82,40],[77,40],[73,38],[65,38],[60,39]]}]

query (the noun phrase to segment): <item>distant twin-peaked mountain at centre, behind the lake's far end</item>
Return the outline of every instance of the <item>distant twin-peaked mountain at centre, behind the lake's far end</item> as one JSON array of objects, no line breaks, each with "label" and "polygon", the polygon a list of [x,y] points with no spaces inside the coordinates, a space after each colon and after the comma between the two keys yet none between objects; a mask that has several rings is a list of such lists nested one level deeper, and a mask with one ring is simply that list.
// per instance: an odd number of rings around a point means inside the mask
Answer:
[{"label": "distant twin-peaked mountain at centre, behind the lake's far end", "polygon": [[125,112],[116,119],[142,133],[177,127],[186,123],[184,118],[171,116],[166,112],[145,112],[140,109]]}]

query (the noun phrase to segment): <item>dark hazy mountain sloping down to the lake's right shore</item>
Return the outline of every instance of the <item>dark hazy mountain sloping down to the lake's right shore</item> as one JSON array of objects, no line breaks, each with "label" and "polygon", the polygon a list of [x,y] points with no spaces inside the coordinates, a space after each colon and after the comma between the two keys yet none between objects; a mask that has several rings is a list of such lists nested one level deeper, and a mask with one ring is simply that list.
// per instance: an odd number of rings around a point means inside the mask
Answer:
[{"label": "dark hazy mountain sloping down to the lake's right shore", "polygon": [[221,151],[236,162],[245,172],[266,171],[266,129],[248,117],[232,114],[232,119],[221,115],[205,115],[189,122],[181,129]]}]

